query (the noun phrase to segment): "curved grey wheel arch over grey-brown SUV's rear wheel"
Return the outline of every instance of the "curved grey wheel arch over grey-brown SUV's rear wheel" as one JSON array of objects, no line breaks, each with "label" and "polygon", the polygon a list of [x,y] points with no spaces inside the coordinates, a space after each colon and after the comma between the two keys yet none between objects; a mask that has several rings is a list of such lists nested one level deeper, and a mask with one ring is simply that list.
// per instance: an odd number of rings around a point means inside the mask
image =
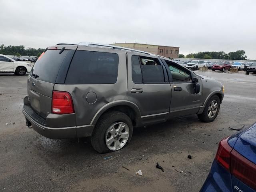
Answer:
[{"label": "curved grey wheel arch over grey-brown SUV's rear wheel", "polygon": [[100,116],[102,116],[103,114],[111,110],[123,112],[124,114],[126,114],[131,118],[132,123],[134,125],[136,124],[136,119],[141,117],[140,110],[136,104],[126,100],[120,100],[120,101],[110,102],[102,106],[102,108],[100,108],[100,110],[98,110],[98,112],[94,115],[90,124],[95,125],[98,119],[100,118]]}]

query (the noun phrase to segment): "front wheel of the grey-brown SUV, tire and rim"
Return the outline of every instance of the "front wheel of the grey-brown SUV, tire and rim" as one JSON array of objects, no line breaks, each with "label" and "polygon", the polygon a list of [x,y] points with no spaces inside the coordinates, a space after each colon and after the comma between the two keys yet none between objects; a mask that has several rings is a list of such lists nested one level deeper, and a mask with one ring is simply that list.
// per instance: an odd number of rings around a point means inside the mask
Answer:
[{"label": "front wheel of the grey-brown SUV, tire and rim", "polygon": [[206,103],[202,114],[198,114],[197,116],[202,122],[212,122],[218,116],[219,111],[220,98],[217,95],[214,95]]}]

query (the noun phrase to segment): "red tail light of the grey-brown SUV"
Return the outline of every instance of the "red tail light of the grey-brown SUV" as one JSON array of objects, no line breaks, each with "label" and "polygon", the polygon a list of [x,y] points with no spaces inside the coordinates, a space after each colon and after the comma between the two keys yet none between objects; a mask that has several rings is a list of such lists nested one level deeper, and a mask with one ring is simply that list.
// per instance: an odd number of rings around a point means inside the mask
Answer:
[{"label": "red tail light of the grey-brown SUV", "polygon": [[72,97],[68,92],[52,92],[52,113],[69,114],[74,113]]}]

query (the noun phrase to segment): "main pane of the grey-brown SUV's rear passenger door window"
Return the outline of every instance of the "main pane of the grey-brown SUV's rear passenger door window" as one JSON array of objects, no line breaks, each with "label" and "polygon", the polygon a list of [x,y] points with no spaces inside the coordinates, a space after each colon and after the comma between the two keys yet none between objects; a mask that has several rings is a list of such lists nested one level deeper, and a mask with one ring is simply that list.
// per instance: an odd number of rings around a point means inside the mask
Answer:
[{"label": "main pane of the grey-brown SUV's rear passenger door window", "polygon": [[156,58],[140,56],[140,65],[144,83],[163,83],[163,67]]}]

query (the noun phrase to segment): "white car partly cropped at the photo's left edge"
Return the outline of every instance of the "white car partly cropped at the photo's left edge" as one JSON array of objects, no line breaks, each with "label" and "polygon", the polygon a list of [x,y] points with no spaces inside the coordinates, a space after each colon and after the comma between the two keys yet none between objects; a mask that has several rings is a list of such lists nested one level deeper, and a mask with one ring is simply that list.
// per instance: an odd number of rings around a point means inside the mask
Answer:
[{"label": "white car partly cropped at the photo's left edge", "polygon": [[0,54],[0,73],[12,72],[16,75],[25,75],[31,69],[31,65],[27,62],[15,61],[8,56]]}]

